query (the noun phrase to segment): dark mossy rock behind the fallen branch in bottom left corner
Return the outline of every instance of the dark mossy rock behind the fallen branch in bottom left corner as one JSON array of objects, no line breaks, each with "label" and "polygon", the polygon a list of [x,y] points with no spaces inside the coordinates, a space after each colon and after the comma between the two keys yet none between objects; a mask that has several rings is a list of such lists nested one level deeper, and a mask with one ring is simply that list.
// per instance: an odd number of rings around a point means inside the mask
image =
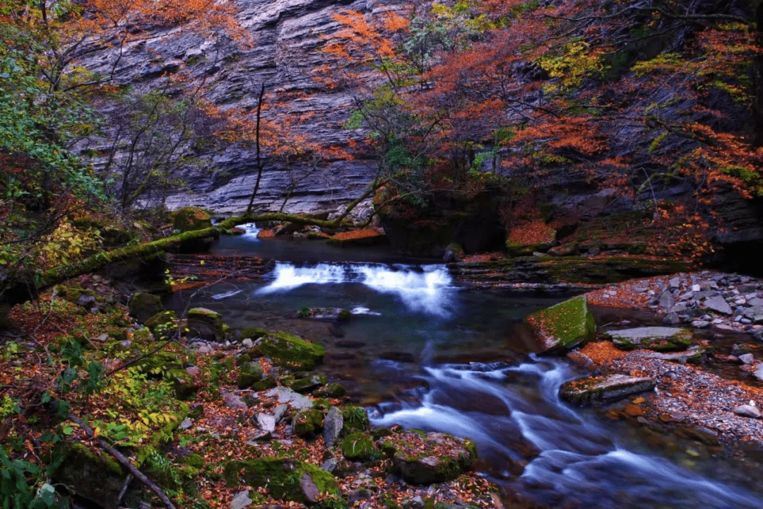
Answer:
[{"label": "dark mossy rock behind the fallen branch in bottom left corner", "polygon": [[127,472],[106,453],[94,453],[82,443],[71,443],[60,451],[63,462],[53,481],[66,485],[82,498],[101,507],[117,507]]}]

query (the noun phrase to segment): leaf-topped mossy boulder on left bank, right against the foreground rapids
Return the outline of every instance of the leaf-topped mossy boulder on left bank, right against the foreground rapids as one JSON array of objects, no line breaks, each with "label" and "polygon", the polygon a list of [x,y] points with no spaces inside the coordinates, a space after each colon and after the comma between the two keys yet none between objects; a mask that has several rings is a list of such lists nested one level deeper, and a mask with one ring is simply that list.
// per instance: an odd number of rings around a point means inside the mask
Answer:
[{"label": "leaf-topped mossy boulder on left bank, right against the foreground rapids", "polygon": [[474,469],[477,461],[472,440],[447,433],[404,430],[380,442],[381,449],[392,456],[394,474],[417,485],[452,481]]}]

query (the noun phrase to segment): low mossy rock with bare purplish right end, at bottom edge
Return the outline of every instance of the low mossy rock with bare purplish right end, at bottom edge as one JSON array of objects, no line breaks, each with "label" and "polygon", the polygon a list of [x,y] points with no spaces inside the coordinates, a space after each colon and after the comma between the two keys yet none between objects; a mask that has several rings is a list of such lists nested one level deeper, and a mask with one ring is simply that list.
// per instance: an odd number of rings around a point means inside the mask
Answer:
[{"label": "low mossy rock with bare purplish right end, at bottom edge", "polygon": [[227,462],[224,478],[230,488],[241,482],[253,488],[267,487],[273,498],[301,504],[315,503],[317,497],[339,494],[336,478],[329,472],[311,463],[288,458]]}]

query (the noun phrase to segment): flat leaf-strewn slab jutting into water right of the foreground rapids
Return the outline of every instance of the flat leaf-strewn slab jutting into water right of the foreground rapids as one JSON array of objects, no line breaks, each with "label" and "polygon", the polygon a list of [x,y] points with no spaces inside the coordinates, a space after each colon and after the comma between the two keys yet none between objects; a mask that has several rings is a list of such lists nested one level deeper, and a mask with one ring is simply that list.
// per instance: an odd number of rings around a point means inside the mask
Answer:
[{"label": "flat leaf-strewn slab jutting into water right of the foreground rapids", "polygon": [[559,397],[576,404],[614,401],[639,392],[652,391],[655,381],[628,375],[599,375],[567,382]]}]

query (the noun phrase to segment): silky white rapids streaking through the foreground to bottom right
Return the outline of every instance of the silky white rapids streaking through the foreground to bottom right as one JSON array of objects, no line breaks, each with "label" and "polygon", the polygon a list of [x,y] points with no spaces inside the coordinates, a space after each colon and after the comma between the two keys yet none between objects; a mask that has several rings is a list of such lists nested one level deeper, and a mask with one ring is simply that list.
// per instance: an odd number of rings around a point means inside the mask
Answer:
[{"label": "silky white rapids streaking through the foreground to bottom right", "polygon": [[[507,387],[507,375],[518,375],[520,387]],[[539,455],[506,483],[544,503],[561,497],[565,507],[763,507],[758,495],[623,449],[610,432],[560,403],[559,386],[575,378],[562,362],[485,371],[427,367],[417,378],[428,388],[417,390],[418,402],[380,404],[371,412],[373,425],[470,437],[481,456],[509,464],[522,459],[517,439],[529,441]]]}]

